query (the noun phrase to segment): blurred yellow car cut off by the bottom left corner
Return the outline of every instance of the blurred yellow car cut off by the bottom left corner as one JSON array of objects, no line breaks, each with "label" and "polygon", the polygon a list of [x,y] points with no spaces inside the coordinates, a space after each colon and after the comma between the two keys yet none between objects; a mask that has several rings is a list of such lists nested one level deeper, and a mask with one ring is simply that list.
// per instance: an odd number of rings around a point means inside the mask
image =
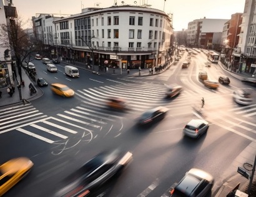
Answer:
[{"label": "blurred yellow car cut off by the bottom left corner", "polygon": [[34,163],[29,158],[19,157],[7,161],[0,166],[0,196],[24,178]]}]

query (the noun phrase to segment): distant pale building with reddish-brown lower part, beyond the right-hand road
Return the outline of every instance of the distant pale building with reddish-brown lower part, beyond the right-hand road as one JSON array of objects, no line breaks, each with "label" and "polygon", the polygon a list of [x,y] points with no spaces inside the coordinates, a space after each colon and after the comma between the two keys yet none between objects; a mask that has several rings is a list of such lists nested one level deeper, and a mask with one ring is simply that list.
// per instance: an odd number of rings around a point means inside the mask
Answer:
[{"label": "distant pale building with reddish-brown lower part, beyond the right-hand road", "polygon": [[[219,48],[222,30],[228,19],[195,19],[187,27],[187,45],[204,49]],[[216,50],[216,49],[215,49]]]}]

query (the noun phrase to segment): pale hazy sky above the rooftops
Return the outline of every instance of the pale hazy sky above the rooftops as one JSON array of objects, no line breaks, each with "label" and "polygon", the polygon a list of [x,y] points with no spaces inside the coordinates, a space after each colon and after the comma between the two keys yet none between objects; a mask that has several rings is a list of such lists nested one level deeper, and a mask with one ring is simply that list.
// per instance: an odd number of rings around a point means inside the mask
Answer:
[{"label": "pale hazy sky above the rooftops", "polygon": [[[111,7],[115,0],[12,0],[23,21],[36,13],[79,14],[86,7]],[[244,12],[245,0],[116,0],[117,5],[151,5],[167,14],[173,14],[174,31],[187,29],[195,19],[230,19],[236,12]],[[31,23],[27,27],[32,27]]]}]

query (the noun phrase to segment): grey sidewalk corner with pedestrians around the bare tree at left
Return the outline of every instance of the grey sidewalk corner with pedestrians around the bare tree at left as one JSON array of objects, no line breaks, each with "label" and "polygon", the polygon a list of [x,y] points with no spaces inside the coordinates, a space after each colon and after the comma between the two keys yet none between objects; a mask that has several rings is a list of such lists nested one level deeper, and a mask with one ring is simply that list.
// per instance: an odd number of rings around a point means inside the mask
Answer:
[{"label": "grey sidewalk corner with pedestrians around the bare tree at left", "polygon": [[[35,82],[33,81],[31,82],[31,79],[29,79],[28,75],[26,74],[23,68],[21,68],[21,74],[22,74],[22,80],[24,80],[24,84],[25,84],[24,87],[21,86],[22,99],[31,101],[41,97],[44,93],[42,92],[40,87],[37,86]],[[20,80],[19,75],[17,75],[17,80]],[[30,92],[29,92],[30,83],[34,84],[34,87],[36,88],[36,94],[30,95]],[[0,91],[2,92],[2,98],[0,99],[0,108],[6,107],[9,105],[14,105],[17,103],[22,103],[22,100],[20,99],[20,95],[19,95],[19,90],[17,89],[17,81],[15,81],[14,87],[15,87],[15,92],[12,95],[12,97],[7,93],[7,87],[0,89]]]}]

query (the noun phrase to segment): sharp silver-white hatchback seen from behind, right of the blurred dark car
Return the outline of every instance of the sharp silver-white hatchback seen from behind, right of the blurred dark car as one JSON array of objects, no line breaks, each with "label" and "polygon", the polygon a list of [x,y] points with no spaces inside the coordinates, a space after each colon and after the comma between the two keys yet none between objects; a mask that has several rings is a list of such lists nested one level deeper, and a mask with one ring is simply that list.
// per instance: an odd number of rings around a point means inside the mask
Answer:
[{"label": "sharp silver-white hatchback seen from behind, right of the blurred dark car", "polygon": [[183,133],[191,138],[199,138],[202,134],[207,132],[208,128],[209,123],[205,120],[193,119],[185,125]]}]

